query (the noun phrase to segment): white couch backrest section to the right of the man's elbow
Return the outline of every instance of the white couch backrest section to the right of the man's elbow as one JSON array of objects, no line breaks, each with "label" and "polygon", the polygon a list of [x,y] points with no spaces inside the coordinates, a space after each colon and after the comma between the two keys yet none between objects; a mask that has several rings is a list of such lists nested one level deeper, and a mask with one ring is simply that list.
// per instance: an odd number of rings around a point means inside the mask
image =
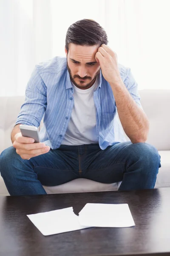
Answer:
[{"label": "white couch backrest section to the right of the man's elbow", "polygon": [[146,142],[158,150],[170,150],[170,90],[139,90],[139,95],[150,122]]}]

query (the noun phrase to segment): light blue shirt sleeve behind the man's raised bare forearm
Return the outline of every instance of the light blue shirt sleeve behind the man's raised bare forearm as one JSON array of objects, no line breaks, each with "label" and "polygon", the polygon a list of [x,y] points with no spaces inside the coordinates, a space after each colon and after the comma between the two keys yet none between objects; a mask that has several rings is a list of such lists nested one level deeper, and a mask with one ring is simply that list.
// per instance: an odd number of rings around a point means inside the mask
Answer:
[{"label": "light blue shirt sleeve behind the man's raised bare forearm", "polygon": [[135,81],[130,68],[127,71],[127,76],[125,78],[124,84],[125,84],[128,92],[130,93],[130,95],[132,96],[134,101],[136,102],[136,104],[139,106],[139,108],[141,108],[143,110],[141,102],[140,102],[140,95],[138,93],[138,84]]}]

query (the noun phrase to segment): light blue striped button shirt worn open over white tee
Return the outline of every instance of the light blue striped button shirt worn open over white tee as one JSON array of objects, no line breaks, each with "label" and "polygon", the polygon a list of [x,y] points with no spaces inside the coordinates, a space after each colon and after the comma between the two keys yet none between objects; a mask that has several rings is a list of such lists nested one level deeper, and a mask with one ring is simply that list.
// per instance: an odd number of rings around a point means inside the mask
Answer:
[{"label": "light blue striped button shirt worn open over white tee", "polygon": [[[130,95],[142,108],[137,83],[130,68],[119,64],[119,72]],[[66,57],[56,56],[35,65],[26,87],[26,99],[17,117],[17,124],[39,127],[40,141],[52,149],[59,148],[74,106],[74,88],[67,69]],[[99,83],[94,91],[96,105],[96,133],[103,150],[115,142],[126,141],[119,121],[116,103],[110,84],[99,73]]]}]

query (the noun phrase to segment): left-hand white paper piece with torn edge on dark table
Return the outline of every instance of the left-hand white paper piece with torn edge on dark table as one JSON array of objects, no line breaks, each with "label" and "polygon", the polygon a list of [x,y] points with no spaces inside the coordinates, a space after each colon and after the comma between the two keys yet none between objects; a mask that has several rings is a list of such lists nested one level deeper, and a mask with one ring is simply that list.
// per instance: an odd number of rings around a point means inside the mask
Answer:
[{"label": "left-hand white paper piece with torn edge on dark table", "polygon": [[73,207],[27,216],[44,236],[87,228],[79,224],[79,217],[74,214]]}]

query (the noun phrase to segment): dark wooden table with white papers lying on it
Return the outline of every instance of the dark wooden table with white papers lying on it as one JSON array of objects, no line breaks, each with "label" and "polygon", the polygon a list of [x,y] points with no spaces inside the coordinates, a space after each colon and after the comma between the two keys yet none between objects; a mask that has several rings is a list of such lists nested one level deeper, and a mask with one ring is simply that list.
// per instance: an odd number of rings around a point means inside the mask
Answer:
[{"label": "dark wooden table with white papers lying on it", "polygon": [[[136,226],[43,236],[26,216],[86,203],[127,203]],[[170,255],[170,189],[0,197],[0,256],[39,255]]]}]

